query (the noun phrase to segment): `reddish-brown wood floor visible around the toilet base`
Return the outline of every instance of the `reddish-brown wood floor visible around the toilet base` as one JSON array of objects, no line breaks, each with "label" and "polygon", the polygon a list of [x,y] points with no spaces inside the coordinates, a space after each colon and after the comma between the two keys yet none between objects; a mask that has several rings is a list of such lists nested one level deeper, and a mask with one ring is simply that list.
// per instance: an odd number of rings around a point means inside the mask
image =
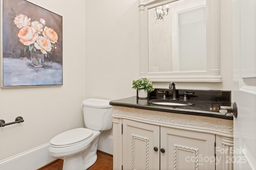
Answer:
[{"label": "reddish-brown wood floor visible around the toilet base", "polygon": [[[113,170],[113,156],[102,152],[100,150],[97,151],[98,159],[90,168],[87,170]],[[63,160],[58,159],[38,170],[62,170]]]}]

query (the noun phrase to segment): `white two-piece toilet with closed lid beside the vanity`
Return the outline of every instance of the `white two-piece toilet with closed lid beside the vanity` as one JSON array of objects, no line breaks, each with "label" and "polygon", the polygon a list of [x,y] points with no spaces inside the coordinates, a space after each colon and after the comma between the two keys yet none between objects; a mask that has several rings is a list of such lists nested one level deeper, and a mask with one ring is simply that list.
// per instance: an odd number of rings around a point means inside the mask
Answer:
[{"label": "white two-piece toilet with closed lid beside the vanity", "polygon": [[72,129],[50,141],[50,155],[63,159],[62,170],[86,170],[97,160],[99,135],[112,128],[112,106],[109,100],[86,99],[82,102],[87,128]]}]

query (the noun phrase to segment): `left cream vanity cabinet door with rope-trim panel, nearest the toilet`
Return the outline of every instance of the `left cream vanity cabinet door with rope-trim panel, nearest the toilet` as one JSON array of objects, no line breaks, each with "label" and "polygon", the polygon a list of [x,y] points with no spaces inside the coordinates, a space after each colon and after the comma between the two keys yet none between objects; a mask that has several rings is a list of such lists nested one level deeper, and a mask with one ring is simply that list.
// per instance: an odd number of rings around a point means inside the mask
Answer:
[{"label": "left cream vanity cabinet door with rope-trim panel, nearest the toilet", "polygon": [[159,170],[159,137],[159,126],[123,119],[123,170]]}]

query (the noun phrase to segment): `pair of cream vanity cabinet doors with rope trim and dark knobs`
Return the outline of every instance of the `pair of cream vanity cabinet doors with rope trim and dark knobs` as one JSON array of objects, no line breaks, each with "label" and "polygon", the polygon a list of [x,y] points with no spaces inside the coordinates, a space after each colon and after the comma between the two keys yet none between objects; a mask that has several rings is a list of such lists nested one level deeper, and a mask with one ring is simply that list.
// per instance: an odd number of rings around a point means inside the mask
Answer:
[{"label": "pair of cream vanity cabinet doors with rope trim and dark knobs", "polygon": [[[213,134],[127,119],[122,119],[122,125],[124,170],[215,169]],[[212,162],[198,162],[199,158],[206,157],[211,158]]]}]

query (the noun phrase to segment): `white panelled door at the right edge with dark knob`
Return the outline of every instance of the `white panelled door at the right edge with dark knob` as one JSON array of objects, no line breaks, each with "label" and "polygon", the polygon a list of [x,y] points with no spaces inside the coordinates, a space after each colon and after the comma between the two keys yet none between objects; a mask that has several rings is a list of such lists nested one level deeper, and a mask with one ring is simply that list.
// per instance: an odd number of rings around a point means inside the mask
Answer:
[{"label": "white panelled door at the right edge with dark knob", "polygon": [[256,169],[256,0],[233,0],[235,170]]}]

